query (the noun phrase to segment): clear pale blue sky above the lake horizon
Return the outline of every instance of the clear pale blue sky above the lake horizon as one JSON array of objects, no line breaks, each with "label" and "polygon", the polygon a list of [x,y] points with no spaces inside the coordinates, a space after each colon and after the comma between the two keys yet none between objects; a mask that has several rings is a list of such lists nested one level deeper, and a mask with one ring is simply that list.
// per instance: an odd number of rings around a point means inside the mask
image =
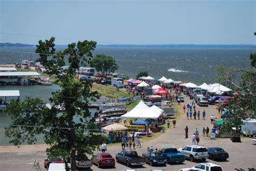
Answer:
[{"label": "clear pale blue sky above the lake horizon", "polygon": [[0,42],[255,44],[256,1],[0,1]]}]

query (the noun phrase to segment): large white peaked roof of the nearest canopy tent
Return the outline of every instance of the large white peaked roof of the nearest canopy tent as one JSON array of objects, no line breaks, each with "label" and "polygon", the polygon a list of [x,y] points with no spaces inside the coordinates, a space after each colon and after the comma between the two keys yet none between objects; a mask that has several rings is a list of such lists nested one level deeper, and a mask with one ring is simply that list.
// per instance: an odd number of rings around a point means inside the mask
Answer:
[{"label": "large white peaked roof of the nearest canopy tent", "polygon": [[148,119],[157,119],[162,112],[157,109],[150,108],[143,101],[140,101],[137,106],[135,106],[130,112],[127,112],[125,115],[121,116],[121,119],[126,118],[148,118]]}]

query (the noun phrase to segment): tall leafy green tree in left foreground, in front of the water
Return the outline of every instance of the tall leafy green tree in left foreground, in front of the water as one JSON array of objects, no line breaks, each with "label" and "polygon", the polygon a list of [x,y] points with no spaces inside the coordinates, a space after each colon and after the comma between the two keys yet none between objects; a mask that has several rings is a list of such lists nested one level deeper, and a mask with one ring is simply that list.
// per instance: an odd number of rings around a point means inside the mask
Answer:
[{"label": "tall leafy green tree in left foreground, in front of the water", "polygon": [[[51,157],[62,156],[66,170],[69,170],[67,160],[71,159],[71,170],[76,170],[76,155],[86,159],[86,154],[93,151],[102,140],[99,133],[88,132],[94,130],[94,124],[88,124],[86,119],[90,116],[90,100],[98,98],[97,91],[90,91],[92,83],[87,80],[79,81],[76,70],[82,62],[90,62],[92,52],[96,47],[95,41],[78,41],[68,45],[63,52],[55,51],[55,38],[39,40],[36,53],[39,53],[46,69],[52,70],[60,84],[61,89],[52,92],[51,108],[47,108],[39,99],[26,98],[24,102],[12,101],[7,108],[11,116],[12,125],[5,128],[7,137],[12,138],[10,143],[21,145],[23,142],[32,144],[36,142],[36,135],[43,134],[44,141],[50,145],[46,149]],[[59,76],[59,64],[65,64],[68,58],[69,69]],[[57,65],[51,61],[55,59]]]}]

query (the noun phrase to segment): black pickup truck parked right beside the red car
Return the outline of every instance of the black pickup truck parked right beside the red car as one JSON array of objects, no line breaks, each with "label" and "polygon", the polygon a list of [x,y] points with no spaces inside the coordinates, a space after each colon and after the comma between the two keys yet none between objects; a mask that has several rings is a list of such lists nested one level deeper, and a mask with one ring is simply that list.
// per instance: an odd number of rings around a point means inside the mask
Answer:
[{"label": "black pickup truck parked right beside the red car", "polygon": [[116,154],[117,162],[126,163],[126,166],[142,166],[146,164],[145,158],[139,156],[136,151],[123,150]]}]

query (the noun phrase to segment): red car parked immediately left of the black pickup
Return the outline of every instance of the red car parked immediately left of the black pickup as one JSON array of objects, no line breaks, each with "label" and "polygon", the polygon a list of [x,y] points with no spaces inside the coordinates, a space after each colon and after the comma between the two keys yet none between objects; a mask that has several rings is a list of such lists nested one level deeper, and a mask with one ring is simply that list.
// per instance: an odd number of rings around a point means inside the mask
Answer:
[{"label": "red car parked immediately left of the black pickup", "polygon": [[109,153],[97,153],[92,157],[92,163],[100,167],[114,167],[116,165],[116,161]]}]

